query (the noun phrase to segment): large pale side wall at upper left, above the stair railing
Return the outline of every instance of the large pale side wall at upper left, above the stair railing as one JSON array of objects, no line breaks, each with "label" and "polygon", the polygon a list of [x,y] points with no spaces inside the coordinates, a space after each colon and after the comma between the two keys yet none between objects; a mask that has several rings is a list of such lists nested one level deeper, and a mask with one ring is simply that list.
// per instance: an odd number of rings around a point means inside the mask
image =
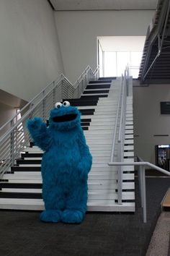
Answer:
[{"label": "large pale side wall at upper left, above the stair railing", "polygon": [[47,0],[0,1],[0,89],[29,101],[63,72]]}]

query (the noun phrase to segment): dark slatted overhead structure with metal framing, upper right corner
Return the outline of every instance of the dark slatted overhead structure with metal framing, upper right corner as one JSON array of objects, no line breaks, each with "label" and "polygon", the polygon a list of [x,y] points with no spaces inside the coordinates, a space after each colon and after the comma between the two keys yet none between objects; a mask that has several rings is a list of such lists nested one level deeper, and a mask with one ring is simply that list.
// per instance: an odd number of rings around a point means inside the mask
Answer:
[{"label": "dark slatted overhead structure with metal framing, upper right corner", "polygon": [[141,84],[169,84],[170,82],[170,2],[158,0],[156,13],[146,33],[138,79]]}]

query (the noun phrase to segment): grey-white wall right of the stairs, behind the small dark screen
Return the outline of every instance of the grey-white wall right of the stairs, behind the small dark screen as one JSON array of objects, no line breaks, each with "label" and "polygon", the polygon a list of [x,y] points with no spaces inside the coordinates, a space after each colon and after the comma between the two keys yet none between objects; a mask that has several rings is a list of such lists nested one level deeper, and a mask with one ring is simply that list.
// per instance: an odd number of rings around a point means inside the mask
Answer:
[{"label": "grey-white wall right of the stairs, behind the small dark screen", "polygon": [[160,108],[161,101],[170,101],[169,86],[133,87],[135,154],[143,161],[155,163],[155,145],[170,144],[170,114],[161,114]]}]

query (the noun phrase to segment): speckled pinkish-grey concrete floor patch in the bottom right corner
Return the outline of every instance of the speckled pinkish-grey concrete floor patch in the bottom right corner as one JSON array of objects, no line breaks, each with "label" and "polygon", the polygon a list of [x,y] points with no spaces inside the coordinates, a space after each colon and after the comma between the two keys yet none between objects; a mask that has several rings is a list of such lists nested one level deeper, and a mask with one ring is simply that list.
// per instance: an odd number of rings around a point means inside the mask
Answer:
[{"label": "speckled pinkish-grey concrete floor patch in the bottom right corner", "polygon": [[170,234],[170,212],[163,212],[158,218],[146,256],[168,256]]}]

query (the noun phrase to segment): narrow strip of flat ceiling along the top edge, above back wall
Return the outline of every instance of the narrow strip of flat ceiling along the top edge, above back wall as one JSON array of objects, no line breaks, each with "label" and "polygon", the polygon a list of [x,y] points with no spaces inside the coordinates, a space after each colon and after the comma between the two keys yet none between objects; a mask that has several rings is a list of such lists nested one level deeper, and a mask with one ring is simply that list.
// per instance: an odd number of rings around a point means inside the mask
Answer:
[{"label": "narrow strip of flat ceiling along the top edge, above back wall", "polygon": [[55,11],[156,9],[158,0],[48,0]]}]

